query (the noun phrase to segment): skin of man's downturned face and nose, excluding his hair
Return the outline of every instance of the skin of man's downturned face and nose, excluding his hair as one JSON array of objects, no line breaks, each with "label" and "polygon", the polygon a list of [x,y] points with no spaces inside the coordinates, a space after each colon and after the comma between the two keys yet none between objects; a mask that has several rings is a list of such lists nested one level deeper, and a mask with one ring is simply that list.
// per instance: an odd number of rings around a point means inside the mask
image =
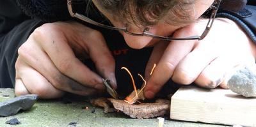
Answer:
[{"label": "skin of man's downturned face and nose, excluding his hair", "polygon": [[[195,11],[191,12],[191,15],[194,15],[195,19],[198,19],[204,11],[206,11],[209,6],[213,3],[214,0],[198,0],[195,2]],[[100,8],[99,4],[97,4],[97,1],[93,0],[93,3],[98,8],[98,10],[109,19],[111,24],[115,27],[125,27],[127,22],[120,22],[118,18],[114,18],[110,13],[107,11],[102,10]],[[182,10],[181,10],[182,11]],[[206,26],[206,24],[205,24]],[[160,35],[160,36],[170,36],[172,35],[177,29],[179,29],[182,26],[172,26],[170,24],[167,24],[165,22],[158,22],[156,25],[149,27],[149,33]],[[135,24],[127,24],[127,29],[131,33],[143,33],[143,28],[136,26]],[[125,32],[120,32],[125,39],[125,42],[129,47],[133,49],[142,49],[143,47],[153,46],[155,43],[157,43],[159,40],[155,38],[150,38],[148,36],[133,36],[131,34],[127,34]],[[186,37],[186,36],[184,36]]]}]

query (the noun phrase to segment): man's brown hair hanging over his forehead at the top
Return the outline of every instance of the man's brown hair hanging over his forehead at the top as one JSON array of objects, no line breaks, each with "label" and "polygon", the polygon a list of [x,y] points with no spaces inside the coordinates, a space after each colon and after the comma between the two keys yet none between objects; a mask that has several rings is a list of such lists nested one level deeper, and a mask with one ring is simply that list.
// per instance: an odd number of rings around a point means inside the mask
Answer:
[{"label": "man's brown hair hanging over his forehead at the top", "polygon": [[134,22],[138,26],[152,26],[160,21],[182,26],[195,21],[195,0],[95,1],[104,11],[115,15],[113,18],[118,17],[122,22]]}]

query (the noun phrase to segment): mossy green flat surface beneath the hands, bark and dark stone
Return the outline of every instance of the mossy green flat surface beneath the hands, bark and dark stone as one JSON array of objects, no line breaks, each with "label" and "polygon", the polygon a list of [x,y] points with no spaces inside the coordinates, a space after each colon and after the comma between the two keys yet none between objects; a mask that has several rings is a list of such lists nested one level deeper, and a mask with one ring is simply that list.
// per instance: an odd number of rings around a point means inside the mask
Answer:
[{"label": "mossy green flat surface beneath the hands, bark and dark stone", "polygon": [[[0,101],[13,98],[13,89],[0,89]],[[3,97],[8,94],[10,97]],[[84,107],[88,107],[85,109]],[[93,108],[95,112],[92,113]],[[76,100],[72,103],[63,103],[61,100],[38,100],[30,110],[19,112],[15,116],[0,117],[0,126],[13,126],[5,124],[6,121],[17,118],[19,126],[74,126],[68,125],[76,122],[76,126],[158,126],[158,120],[132,119],[121,112],[105,114],[102,108],[94,107],[86,100]],[[166,119],[164,126],[221,126],[216,124],[189,123]]]}]

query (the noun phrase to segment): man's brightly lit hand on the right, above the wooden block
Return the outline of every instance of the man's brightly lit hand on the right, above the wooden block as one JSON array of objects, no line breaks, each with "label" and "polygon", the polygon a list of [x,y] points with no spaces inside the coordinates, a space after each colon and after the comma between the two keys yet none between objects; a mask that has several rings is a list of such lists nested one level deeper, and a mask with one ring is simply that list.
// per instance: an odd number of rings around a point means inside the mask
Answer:
[{"label": "man's brightly lit hand on the right, above the wooden block", "polygon": [[[207,20],[182,27],[173,36],[182,38],[202,33]],[[255,64],[255,45],[233,21],[216,19],[204,40],[157,43],[148,61],[145,96],[153,98],[170,79],[178,84],[227,88],[225,73],[239,64]],[[157,66],[148,75],[152,64]]]}]

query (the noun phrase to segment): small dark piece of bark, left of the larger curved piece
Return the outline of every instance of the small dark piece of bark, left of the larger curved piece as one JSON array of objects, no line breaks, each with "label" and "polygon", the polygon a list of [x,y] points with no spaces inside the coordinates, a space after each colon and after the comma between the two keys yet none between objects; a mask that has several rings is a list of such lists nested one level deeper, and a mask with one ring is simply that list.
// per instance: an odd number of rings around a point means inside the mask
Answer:
[{"label": "small dark piece of bark, left of the larger curved piece", "polygon": [[98,107],[104,108],[104,113],[114,112],[115,108],[113,108],[113,105],[108,101],[108,98],[93,98],[90,100],[90,103],[93,105],[96,105]]}]

